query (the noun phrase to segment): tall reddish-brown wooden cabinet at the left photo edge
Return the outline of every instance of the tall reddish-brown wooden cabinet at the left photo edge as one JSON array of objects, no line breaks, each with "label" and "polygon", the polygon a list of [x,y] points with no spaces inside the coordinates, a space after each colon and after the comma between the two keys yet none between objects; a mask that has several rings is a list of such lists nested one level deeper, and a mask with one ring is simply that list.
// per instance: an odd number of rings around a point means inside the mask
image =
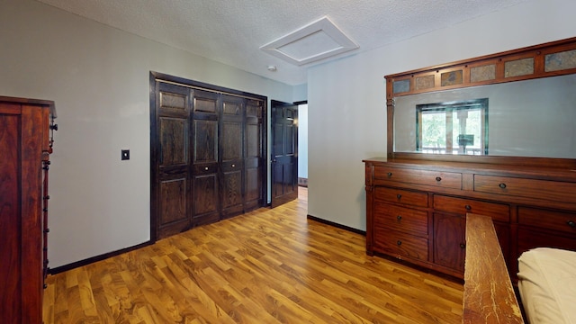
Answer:
[{"label": "tall reddish-brown wooden cabinet at the left photo edge", "polygon": [[40,323],[54,103],[0,96],[0,319]]}]

